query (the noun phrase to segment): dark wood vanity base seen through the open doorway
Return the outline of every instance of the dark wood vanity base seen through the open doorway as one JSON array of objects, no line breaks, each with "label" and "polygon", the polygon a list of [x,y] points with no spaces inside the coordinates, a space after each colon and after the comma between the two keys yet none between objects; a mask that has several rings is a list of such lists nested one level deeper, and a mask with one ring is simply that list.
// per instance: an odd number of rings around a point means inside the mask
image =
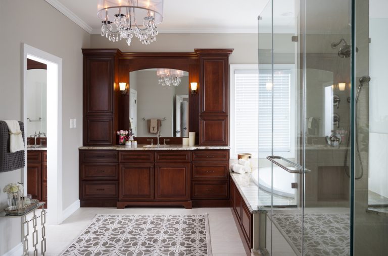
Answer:
[{"label": "dark wood vanity base seen through the open doorway", "polygon": [[27,194],[47,205],[46,151],[27,151]]}]

